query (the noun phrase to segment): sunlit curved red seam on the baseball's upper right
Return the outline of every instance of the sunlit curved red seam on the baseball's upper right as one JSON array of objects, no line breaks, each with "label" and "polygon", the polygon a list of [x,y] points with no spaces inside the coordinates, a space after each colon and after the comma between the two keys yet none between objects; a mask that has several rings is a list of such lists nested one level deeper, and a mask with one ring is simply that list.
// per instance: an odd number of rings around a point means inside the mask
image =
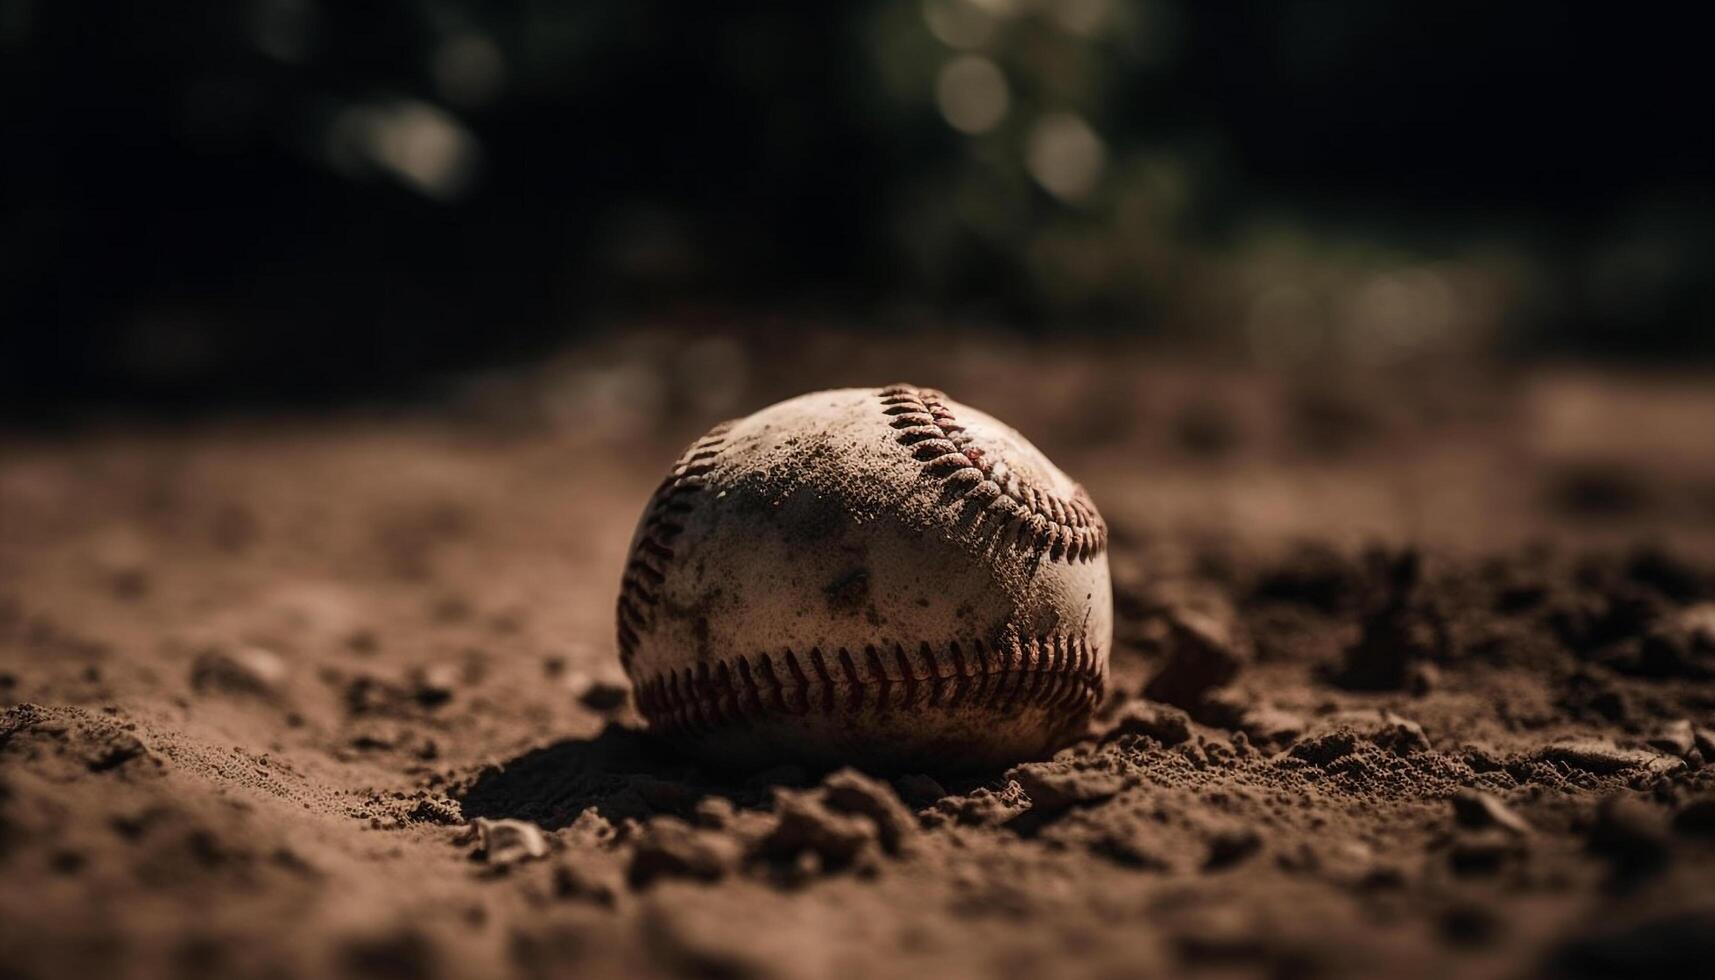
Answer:
[{"label": "sunlit curved red seam on the baseball's upper right", "polygon": [[1108,549],[1108,525],[1084,487],[1070,498],[1048,493],[996,465],[971,445],[940,391],[892,384],[882,390],[882,410],[894,436],[923,462],[923,472],[959,494],[959,505],[981,508],[978,518],[1002,518],[1002,535],[1055,561],[1091,561]]}]

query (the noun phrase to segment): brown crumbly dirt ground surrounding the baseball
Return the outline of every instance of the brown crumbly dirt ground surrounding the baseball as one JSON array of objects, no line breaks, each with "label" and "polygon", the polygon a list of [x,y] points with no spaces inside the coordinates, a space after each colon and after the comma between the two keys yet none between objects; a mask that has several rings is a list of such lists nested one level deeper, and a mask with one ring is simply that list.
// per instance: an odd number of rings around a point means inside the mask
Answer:
[{"label": "brown crumbly dirt ground surrounding the baseball", "polygon": [[[612,616],[664,467],[894,381],[1108,518],[1089,738],[652,743]],[[641,333],[427,407],[12,433],[0,977],[1701,973],[1710,381]]]}]

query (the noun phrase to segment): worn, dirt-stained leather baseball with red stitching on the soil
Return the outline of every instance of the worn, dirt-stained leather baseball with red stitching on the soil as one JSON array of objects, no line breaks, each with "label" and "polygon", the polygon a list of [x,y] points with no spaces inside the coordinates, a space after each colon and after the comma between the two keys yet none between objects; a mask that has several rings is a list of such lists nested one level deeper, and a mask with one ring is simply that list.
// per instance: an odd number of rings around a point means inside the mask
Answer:
[{"label": "worn, dirt-stained leather baseball with red stitching on the soil", "polygon": [[619,659],[650,726],[722,764],[990,767],[1084,729],[1108,532],[1002,422],[928,388],[715,426],[631,542]]}]

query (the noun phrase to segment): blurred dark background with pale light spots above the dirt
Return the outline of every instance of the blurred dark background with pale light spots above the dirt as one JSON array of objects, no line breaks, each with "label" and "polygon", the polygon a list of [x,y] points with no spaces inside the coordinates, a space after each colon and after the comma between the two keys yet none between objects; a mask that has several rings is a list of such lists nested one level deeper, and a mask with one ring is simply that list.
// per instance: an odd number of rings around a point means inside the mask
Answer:
[{"label": "blurred dark background with pale light spots above the dirt", "polygon": [[0,0],[0,400],[640,319],[1708,360],[1708,50],[1677,3]]}]

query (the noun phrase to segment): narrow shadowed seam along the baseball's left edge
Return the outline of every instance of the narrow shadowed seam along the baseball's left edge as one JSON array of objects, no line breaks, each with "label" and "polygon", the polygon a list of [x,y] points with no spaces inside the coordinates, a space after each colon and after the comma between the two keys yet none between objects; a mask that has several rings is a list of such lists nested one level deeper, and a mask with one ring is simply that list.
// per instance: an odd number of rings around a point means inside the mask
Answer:
[{"label": "narrow shadowed seam along the baseball's left edge", "polygon": [[655,489],[638,530],[636,546],[619,580],[619,662],[629,669],[638,632],[647,628],[660,602],[660,585],[672,565],[672,542],[684,532],[683,517],[691,511],[691,498],[701,493],[715,457],[727,445],[732,422],[722,422],[691,443],[672,463]]}]

